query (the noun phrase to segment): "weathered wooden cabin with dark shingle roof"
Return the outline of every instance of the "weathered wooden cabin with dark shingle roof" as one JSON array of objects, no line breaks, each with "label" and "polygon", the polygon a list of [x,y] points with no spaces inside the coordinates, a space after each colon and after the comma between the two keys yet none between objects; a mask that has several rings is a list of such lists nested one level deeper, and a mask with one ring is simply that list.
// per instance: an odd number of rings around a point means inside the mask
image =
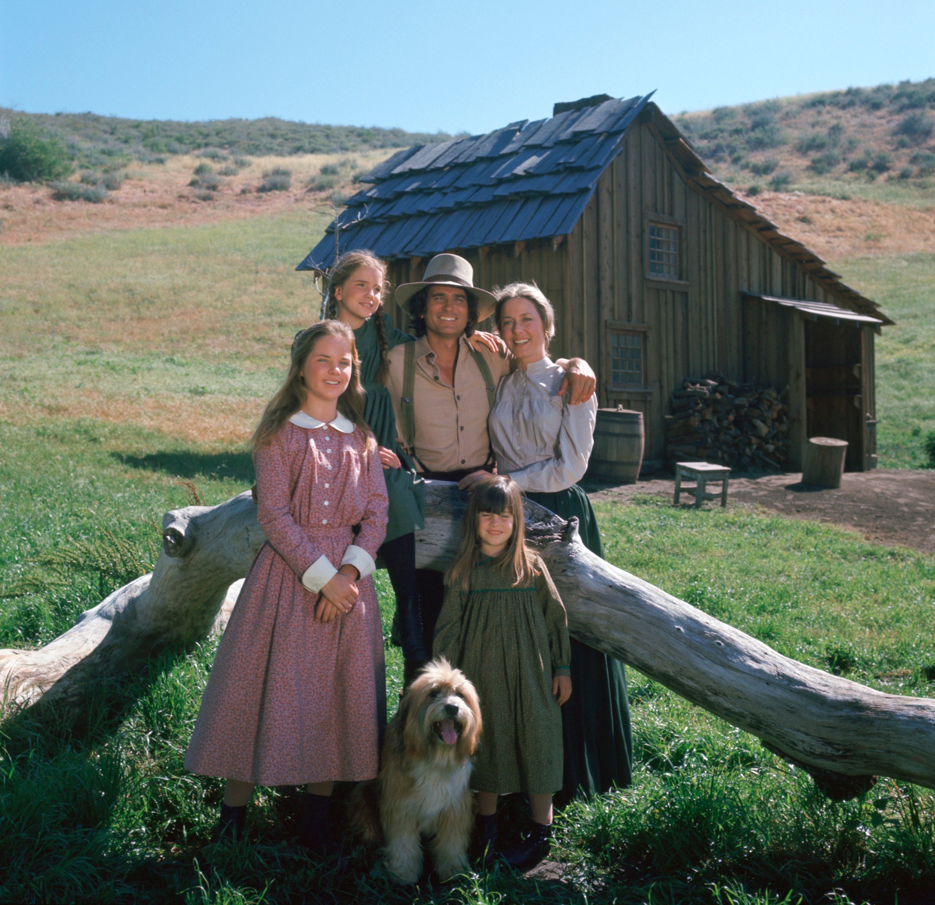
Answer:
[{"label": "weathered wooden cabin with dark shingle roof", "polygon": [[711,371],[788,387],[785,467],[812,436],[848,441],[848,470],[876,464],[873,340],[892,321],[716,180],[650,95],[408,148],[364,182],[298,270],[329,267],[337,239],[387,259],[394,285],[446,251],[475,285],[535,281],[552,354],[592,364],[601,406],[643,413],[649,464],[669,393]]}]

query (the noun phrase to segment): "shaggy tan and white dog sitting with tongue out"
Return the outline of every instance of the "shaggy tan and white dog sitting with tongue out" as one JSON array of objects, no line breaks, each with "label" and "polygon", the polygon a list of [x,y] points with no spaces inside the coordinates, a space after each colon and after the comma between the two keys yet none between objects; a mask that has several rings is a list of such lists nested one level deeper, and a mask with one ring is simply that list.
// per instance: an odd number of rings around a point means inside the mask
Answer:
[{"label": "shaggy tan and white dog sitting with tongue out", "polygon": [[470,755],[481,735],[477,692],[447,660],[425,666],[386,727],[380,776],[353,796],[353,820],[368,842],[384,842],[400,883],[422,875],[423,835],[431,837],[442,880],[468,869],[474,803]]}]

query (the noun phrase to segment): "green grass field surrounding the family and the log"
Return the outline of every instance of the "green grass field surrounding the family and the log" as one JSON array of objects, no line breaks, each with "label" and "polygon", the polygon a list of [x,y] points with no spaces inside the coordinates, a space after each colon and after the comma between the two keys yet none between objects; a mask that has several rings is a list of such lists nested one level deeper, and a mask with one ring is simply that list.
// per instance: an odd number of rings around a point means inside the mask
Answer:
[{"label": "green grass field surrounding the family and the log", "polygon": [[[209,504],[250,486],[243,439],[309,322],[315,297],[291,268],[321,226],[295,212],[0,248],[0,647],[46,643],[145,571],[162,513],[187,503],[180,478]],[[890,467],[917,467],[913,428],[935,428],[933,261],[836,265],[899,321],[878,345]],[[638,498],[598,518],[611,562],[712,616],[874,688],[932,693],[932,558],[741,508]],[[50,558],[114,539],[132,555],[67,573]],[[385,577],[378,590],[385,617]],[[928,790],[881,781],[830,802],[632,670],[635,782],[559,817],[561,883],[495,869],[417,895],[362,849],[316,865],[291,838],[288,790],[257,796],[252,844],[211,850],[221,783],[181,764],[215,643],[165,652],[74,723],[27,712],[0,725],[0,901],[877,905],[935,878]],[[388,649],[391,705],[399,678]]]}]

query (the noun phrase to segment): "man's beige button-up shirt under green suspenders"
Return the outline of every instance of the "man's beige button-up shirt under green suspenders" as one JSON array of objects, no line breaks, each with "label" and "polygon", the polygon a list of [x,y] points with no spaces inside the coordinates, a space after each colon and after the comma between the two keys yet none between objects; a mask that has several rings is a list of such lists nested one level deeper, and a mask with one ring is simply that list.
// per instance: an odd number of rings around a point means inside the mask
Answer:
[{"label": "man's beige button-up shirt under green suspenders", "polygon": [[[400,400],[403,395],[403,359],[407,343],[390,350],[389,387],[396,412],[396,432],[400,443],[403,420]],[[480,468],[487,461],[490,439],[487,416],[490,405],[481,371],[471,357],[468,341],[458,340],[458,360],[454,368],[454,386],[442,382],[435,363],[435,353],[423,336],[415,341],[415,385],[412,398],[415,406],[415,454],[431,472],[453,472],[464,468]],[[487,362],[494,386],[510,372],[507,353],[491,352],[481,346],[480,354]]]}]

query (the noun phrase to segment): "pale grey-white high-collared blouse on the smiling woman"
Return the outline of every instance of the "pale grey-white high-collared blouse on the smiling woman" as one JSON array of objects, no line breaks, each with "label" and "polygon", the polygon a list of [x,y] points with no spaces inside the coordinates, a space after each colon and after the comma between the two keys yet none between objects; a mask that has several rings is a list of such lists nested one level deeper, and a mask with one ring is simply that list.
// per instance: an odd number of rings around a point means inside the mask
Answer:
[{"label": "pale grey-white high-collared blouse on the smiling woman", "polygon": [[520,489],[554,493],[576,484],[594,446],[597,395],[580,405],[556,396],[565,371],[549,358],[517,368],[496,388],[490,442],[497,472]]}]

